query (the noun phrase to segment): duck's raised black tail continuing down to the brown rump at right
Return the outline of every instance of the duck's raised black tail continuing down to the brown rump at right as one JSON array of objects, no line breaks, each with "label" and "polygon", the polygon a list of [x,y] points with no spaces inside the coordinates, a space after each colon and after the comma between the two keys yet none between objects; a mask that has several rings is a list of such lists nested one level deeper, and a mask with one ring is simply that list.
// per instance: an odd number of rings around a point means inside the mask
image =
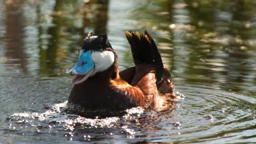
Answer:
[{"label": "duck's raised black tail continuing down to the brown rump at right", "polygon": [[164,68],[161,54],[147,30],[145,30],[145,34],[126,31],[125,36],[131,45],[135,66],[140,66],[141,63],[150,64],[149,66],[155,70],[156,85],[159,94],[173,94],[174,85],[172,84],[171,74]]}]

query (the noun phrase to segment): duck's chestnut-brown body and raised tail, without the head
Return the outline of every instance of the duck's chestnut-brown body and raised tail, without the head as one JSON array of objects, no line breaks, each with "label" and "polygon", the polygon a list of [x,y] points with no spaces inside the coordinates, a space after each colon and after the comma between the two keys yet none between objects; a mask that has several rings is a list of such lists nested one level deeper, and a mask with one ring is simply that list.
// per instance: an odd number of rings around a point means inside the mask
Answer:
[{"label": "duck's chestnut-brown body and raised tail, without the head", "polygon": [[171,74],[163,67],[161,55],[150,34],[126,31],[135,67],[119,73],[117,54],[110,46],[115,61],[107,70],[87,78],[73,87],[66,111],[86,117],[123,114],[132,107],[161,109],[175,99]]}]

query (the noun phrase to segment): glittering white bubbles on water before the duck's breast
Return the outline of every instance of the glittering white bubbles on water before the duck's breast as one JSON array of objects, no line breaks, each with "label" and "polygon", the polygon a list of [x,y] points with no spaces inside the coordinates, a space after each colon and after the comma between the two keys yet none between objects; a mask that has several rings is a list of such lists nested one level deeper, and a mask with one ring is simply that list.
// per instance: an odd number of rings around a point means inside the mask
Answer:
[{"label": "glittering white bubbles on water before the duck's breast", "polygon": [[[119,117],[107,117],[107,118],[85,118],[82,116],[67,114],[62,111],[67,104],[67,101],[62,103],[57,103],[50,107],[49,110],[46,110],[44,113],[15,113],[9,118],[6,118],[7,121],[11,123],[19,124],[18,130],[23,129],[23,125],[31,127],[28,129],[33,129],[35,127],[35,133],[59,133],[59,129],[62,129],[64,136],[70,139],[74,137],[74,130],[84,130],[84,129],[97,129],[103,127],[113,127],[115,123],[119,120]],[[130,115],[140,114],[139,109],[130,110]],[[134,117],[134,116],[131,116]],[[30,120],[31,119],[31,120]],[[39,123],[39,124],[38,124]],[[12,127],[10,124],[10,129],[16,129],[17,127]],[[62,127],[62,128],[61,128]],[[27,128],[26,128],[27,129]],[[58,131],[57,131],[58,130]],[[42,131],[42,132],[41,132]],[[61,132],[61,133],[62,133]],[[84,140],[90,139],[87,136]]]}]

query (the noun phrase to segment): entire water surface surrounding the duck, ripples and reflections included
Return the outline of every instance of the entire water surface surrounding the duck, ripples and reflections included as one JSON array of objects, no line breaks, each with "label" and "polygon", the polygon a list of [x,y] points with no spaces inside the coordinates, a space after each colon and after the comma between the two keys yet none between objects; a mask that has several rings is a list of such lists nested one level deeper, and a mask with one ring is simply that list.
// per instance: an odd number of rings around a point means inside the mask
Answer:
[{"label": "entire water surface surrounding the duck, ripples and reflections included", "polygon": [[[100,3],[100,4],[99,4]],[[0,143],[256,142],[254,1],[0,1]],[[180,96],[165,113],[63,113],[89,31],[133,66],[125,30],[147,29]]]}]

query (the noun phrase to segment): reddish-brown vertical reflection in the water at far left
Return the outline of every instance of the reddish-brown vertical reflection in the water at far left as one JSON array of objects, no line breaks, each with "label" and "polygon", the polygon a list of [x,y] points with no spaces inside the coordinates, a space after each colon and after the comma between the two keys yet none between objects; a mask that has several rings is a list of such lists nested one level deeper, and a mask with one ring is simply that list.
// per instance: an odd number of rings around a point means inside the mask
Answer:
[{"label": "reddish-brown vertical reflection in the water at far left", "polygon": [[28,61],[23,42],[25,37],[23,32],[26,24],[23,20],[22,11],[19,9],[22,3],[23,1],[15,3],[12,1],[5,2],[5,57],[10,58],[7,64],[17,66],[26,74],[28,72]]}]

